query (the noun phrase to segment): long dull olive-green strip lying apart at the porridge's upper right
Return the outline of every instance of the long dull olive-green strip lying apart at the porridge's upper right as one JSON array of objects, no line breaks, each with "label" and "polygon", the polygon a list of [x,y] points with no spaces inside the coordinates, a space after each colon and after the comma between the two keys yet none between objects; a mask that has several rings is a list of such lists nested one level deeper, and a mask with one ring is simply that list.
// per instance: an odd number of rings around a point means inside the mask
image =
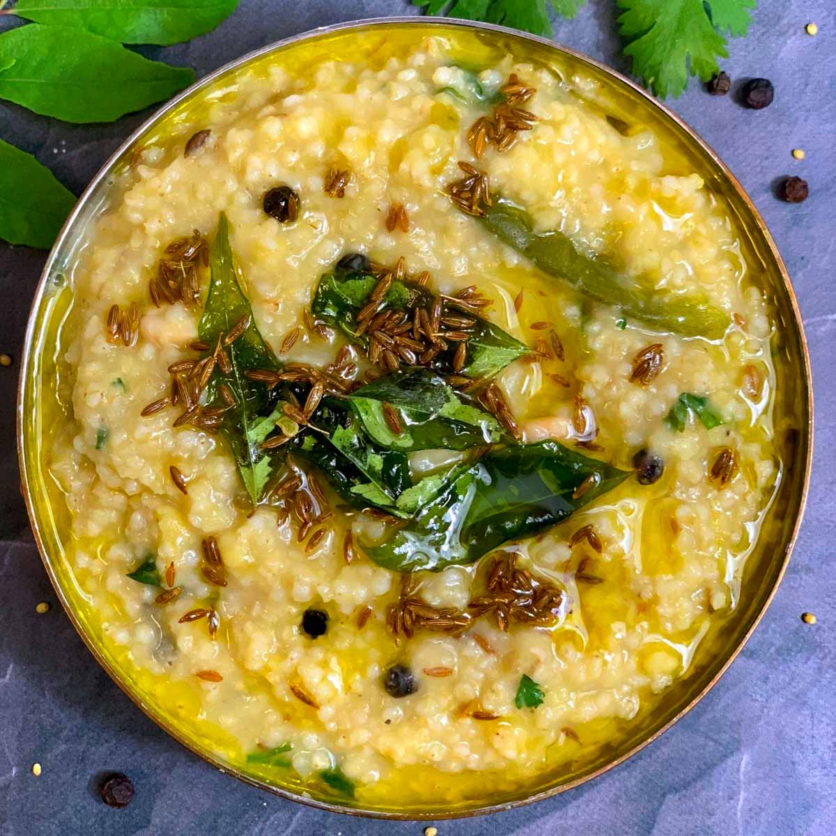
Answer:
[{"label": "long dull olive-green strip lying apart at the porridge's upper right", "polygon": [[578,288],[595,302],[619,308],[621,314],[652,329],[684,337],[720,339],[729,324],[728,315],[696,293],[665,293],[643,287],[623,276],[598,257],[575,247],[563,232],[538,232],[533,218],[506,198],[482,205],[480,220],[501,241],[528,257],[543,273]]}]

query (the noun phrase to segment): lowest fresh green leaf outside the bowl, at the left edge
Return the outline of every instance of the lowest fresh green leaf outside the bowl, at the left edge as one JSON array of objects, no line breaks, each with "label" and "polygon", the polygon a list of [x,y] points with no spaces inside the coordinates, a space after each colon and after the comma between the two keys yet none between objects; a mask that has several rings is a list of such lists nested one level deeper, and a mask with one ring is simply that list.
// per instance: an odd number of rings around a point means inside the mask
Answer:
[{"label": "lowest fresh green leaf outside the bowl, at the left edge", "polygon": [[[9,59],[8,67],[13,64],[14,59]],[[48,250],[74,203],[73,193],[55,179],[52,171],[33,155],[0,140],[0,238],[10,244]]]}]

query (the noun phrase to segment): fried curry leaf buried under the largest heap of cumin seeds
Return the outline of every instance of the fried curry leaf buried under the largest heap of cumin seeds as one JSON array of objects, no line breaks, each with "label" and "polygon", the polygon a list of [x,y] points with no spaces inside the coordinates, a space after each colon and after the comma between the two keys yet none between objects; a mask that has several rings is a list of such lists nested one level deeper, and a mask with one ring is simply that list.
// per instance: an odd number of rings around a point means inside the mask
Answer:
[{"label": "fried curry leaf buried under the largest heap of cumin seeds", "polygon": [[[369,301],[377,279],[369,273],[326,273],[319,280],[311,309],[328,324],[339,328],[351,342],[368,347],[366,334],[357,334],[356,315]],[[413,308],[431,308],[434,296],[426,288],[412,282],[392,282],[383,298],[389,308],[411,312]],[[456,311],[457,314],[461,312]],[[513,360],[530,353],[527,345],[482,317],[467,314],[475,321],[467,340],[466,365],[461,370],[467,377],[492,377]],[[436,358],[438,369],[450,370],[456,345],[451,345]]]}]

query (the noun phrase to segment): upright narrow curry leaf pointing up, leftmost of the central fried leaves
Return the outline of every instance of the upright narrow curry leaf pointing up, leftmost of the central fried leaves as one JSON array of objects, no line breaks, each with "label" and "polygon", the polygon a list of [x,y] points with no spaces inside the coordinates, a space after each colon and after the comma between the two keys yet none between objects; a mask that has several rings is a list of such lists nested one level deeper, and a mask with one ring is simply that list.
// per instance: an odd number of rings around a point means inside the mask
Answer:
[{"label": "upright narrow curry leaf pointing up, leftmost of the central fried leaves", "polygon": [[198,334],[211,346],[210,352],[217,340],[228,334],[243,317],[250,318],[247,329],[225,349],[230,362],[229,372],[224,374],[216,364],[207,393],[209,402],[214,401],[221,383],[232,392],[235,404],[223,415],[221,432],[235,456],[247,493],[252,502],[258,502],[272,472],[269,457],[258,447],[263,431],[263,418],[259,416],[272,412],[278,395],[269,393],[264,385],[247,380],[244,372],[248,369],[278,370],[280,364],[273,349],[259,334],[252,308],[242,291],[242,277],[229,242],[229,222],[223,212],[209,248],[209,266],[209,295]]}]

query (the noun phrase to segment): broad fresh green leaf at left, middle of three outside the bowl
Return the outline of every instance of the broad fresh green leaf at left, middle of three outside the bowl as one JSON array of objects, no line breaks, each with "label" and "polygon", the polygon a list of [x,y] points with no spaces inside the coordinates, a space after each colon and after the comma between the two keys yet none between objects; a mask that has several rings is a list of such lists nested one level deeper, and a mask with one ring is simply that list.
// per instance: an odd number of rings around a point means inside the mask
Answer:
[{"label": "broad fresh green leaf at left, middle of three outside the bowl", "polygon": [[0,99],[65,122],[112,122],[195,80],[84,29],[33,23],[0,34]]}]

